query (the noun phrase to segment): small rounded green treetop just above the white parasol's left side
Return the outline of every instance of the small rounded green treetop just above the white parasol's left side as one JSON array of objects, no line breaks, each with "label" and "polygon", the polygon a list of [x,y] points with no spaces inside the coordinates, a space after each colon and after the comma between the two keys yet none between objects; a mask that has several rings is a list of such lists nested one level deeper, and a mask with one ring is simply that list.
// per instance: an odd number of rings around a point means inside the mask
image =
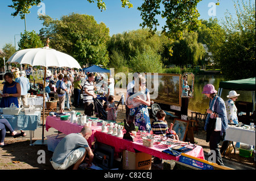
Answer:
[{"label": "small rounded green treetop just above the white parasol's left side", "polygon": [[20,40],[18,42],[19,49],[27,49],[27,48],[42,48],[44,44],[40,40],[38,33],[34,30],[24,31],[24,33],[20,33]]}]

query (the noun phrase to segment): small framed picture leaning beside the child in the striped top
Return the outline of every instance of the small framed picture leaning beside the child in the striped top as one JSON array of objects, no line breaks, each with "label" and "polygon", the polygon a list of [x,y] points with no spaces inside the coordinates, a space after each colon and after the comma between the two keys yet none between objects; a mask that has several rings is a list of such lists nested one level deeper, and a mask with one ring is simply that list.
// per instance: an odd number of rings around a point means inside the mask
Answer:
[{"label": "small framed picture leaning beside the child in the striped top", "polygon": [[179,136],[180,141],[185,141],[186,134],[188,131],[189,121],[182,119],[174,119],[174,127],[172,129]]}]

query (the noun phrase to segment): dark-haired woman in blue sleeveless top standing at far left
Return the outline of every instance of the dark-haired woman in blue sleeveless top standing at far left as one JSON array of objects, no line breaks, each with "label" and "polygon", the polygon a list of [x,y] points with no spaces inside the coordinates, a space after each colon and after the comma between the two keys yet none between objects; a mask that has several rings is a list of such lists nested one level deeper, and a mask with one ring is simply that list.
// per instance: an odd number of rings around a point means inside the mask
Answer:
[{"label": "dark-haired woman in blue sleeveless top standing at far left", "polygon": [[5,83],[3,85],[3,92],[1,94],[2,100],[0,107],[10,107],[11,103],[14,103],[16,107],[19,107],[18,97],[20,96],[20,85],[13,81],[13,74],[6,73],[3,75]]}]

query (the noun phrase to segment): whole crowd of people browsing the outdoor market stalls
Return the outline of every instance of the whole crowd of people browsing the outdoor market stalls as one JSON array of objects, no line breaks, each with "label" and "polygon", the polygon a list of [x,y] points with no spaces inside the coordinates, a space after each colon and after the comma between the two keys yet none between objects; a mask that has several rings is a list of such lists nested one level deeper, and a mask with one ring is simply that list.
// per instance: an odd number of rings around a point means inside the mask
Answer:
[{"label": "whole crowd of people browsing the outdoor market stalls", "polygon": [[[2,97],[0,103],[1,108],[10,107],[11,103],[14,103],[16,107],[21,107],[21,102],[23,105],[27,105],[27,92],[30,89],[29,79],[26,77],[26,75],[28,75],[27,72],[28,71],[20,71],[19,75],[15,74],[15,79],[12,73],[6,73],[4,75],[3,78],[5,82],[3,91],[0,94]],[[48,98],[51,92],[57,93],[60,113],[65,111],[65,107],[67,107],[67,111],[70,111],[71,104],[75,107],[84,105],[84,114],[88,116],[93,115],[93,98],[97,96],[95,93],[96,83],[100,84],[101,82],[98,92],[106,93],[105,110],[108,111],[108,120],[116,120],[115,111],[117,110],[117,106],[115,106],[114,103],[114,79],[112,77],[110,77],[108,81],[104,81],[103,74],[85,73],[73,69],[59,69],[55,70],[51,76],[47,77],[46,82]],[[186,86],[186,83],[187,82],[184,80],[184,86]],[[176,132],[172,129],[174,125],[171,124],[170,128],[168,127],[167,121],[165,120],[166,113],[163,110],[156,113],[157,120],[151,123],[147,108],[151,104],[150,94],[146,87],[146,78],[140,73],[135,73],[133,81],[128,83],[126,103],[127,99],[137,92],[143,92],[146,99],[135,96],[133,101],[139,104],[136,107],[126,105],[126,119],[128,120],[129,117],[132,117],[139,131],[153,131],[154,134],[170,136],[179,140]],[[236,101],[240,94],[237,94],[236,91],[230,91],[227,96],[228,100],[224,102],[216,93],[217,91],[214,89],[213,85],[208,84],[204,86],[202,94],[205,94],[210,99],[209,108],[207,110],[208,116],[205,121],[205,131],[207,131],[207,142],[209,142],[210,150],[216,151],[216,161],[218,165],[223,165],[218,145],[220,141],[223,141],[225,138],[228,123],[238,124],[237,109],[234,101]],[[71,103],[71,96],[73,97],[73,103]],[[82,104],[80,103],[81,96]],[[214,119],[214,116],[221,118],[222,128],[220,131],[213,130],[211,120]],[[4,138],[6,131],[10,131],[14,137],[26,136],[26,133],[23,131],[20,131],[20,133],[15,132],[6,119],[0,119],[0,146],[5,145]],[[86,142],[86,138],[88,138],[90,134],[92,134],[91,130],[83,128],[80,133],[66,136],[63,141],[61,141],[61,144],[57,146],[53,154],[53,167],[55,169],[67,169],[68,166],[75,163],[74,169],[77,169],[77,164],[84,160],[86,154],[89,155],[89,163],[91,163],[93,154]],[[77,135],[80,137],[77,137]],[[64,152],[63,148],[65,149]],[[76,151],[74,152],[73,150]]]}]

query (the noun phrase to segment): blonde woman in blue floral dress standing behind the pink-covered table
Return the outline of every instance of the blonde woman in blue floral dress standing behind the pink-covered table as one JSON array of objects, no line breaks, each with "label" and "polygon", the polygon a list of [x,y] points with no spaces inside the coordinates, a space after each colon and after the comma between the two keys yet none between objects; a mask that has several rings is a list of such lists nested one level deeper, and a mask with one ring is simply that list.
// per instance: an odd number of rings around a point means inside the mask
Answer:
[{"label": "blonde woman in blue floral dress standing behind the pink-covered table", "polygon": [[130,115],[135,116],[135,125],[139,127],[139,131],[150,132],[151,123],[147,109],[147,106],[150,106],[150,94],[149,90],[146,88],[146,79],[144,77],[137,77],[134,83],[134,89],[128,91],[128,98],[138,91],[142,91],[146,94],[146,100],[143,100],[138,96],[135,97],[135,102],[141,102],[141,104],[135,108],[132,108],[132,105],[129,105]]}]

